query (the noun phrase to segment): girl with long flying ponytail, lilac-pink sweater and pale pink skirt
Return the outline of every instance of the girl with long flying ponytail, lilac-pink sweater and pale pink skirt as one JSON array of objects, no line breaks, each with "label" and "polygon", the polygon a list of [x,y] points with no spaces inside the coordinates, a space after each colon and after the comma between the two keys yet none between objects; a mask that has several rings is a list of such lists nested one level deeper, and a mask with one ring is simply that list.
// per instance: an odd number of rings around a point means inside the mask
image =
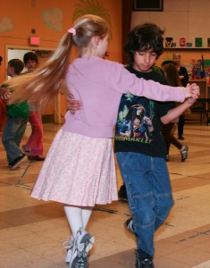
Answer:
[{"label": "girl with long flying ponytail, lilac-pink sweater and pale pink skirt", "polygon": [[[122,94],[183,102],[185,97],[197,98],[199,91],[195,85],[195,90],[172,89],[138,79],[122,64],[104,60],[108,35],[102,18],[81,17],[47,63],[11,84],[16,89],[13,102],[44,105],[66,80],[75,99],[82,103],[80,111],[66,113],[31,194],[64,204],[71,227],[66,262],[75,268],[88,266],[94,237],[85,229],[94,205],[117,200],[112,138]],[[73,45],[79,48],[80,56],[69,65]]]}]

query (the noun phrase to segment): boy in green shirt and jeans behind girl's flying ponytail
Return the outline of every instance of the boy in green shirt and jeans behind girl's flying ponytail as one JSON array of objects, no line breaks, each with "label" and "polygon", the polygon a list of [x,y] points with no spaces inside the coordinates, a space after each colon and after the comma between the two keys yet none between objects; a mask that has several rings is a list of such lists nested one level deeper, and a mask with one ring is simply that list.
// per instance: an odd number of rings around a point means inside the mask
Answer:
[{"label": "boy in green shirt and jeans behind girl's flying ponytail", "polygon": [[[8,76],[13,78],[19,75],[23,68],[24,63],[21,60],[13,59],[9,61],[6,72]],[[3,99],[7,99],[10,96],[5,84],[0,88],[0,95]],[[29,106],[25,102],[20,105],[6,105],[6,115],[7,119],[4,125],[2,142],[9,167],[11,170],[15,170],[28,159],[27,155],[22,154],[20,144],[29,120]]]}]

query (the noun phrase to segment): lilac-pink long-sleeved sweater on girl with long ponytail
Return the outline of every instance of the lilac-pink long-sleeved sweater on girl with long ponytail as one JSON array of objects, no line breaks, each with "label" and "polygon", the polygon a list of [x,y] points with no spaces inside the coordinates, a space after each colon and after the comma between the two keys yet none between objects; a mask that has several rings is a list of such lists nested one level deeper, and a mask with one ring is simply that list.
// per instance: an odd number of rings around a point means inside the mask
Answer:
[{"label": "lilac-pink long-sleeved sweater on girl with long ponytail", "polygon": [[88,137],[112,138],[122,94],[146,96],[157,101],[183,102],[185,88],[163,86],[143,80],[120,63],[99,57],[78,58],[71,63],[67,86],[82,107],[75,114],[67,112],[63,130]]}]

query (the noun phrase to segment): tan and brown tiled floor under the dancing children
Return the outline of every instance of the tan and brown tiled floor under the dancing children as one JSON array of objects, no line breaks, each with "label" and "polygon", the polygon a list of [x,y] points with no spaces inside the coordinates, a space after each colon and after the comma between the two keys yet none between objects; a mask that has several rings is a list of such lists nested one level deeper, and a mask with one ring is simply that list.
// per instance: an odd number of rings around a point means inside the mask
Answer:
[{"label": "tan and brown tiled floor under the dancing children", "polygon": [[[44,124],[45,155],[61,125]],[[29,137],[28,126],[23,142]],[[0,135],[2,135],[0,133]],[[185,125],[189,158],[171,148],[168,168],[175,205],[155,234],[155,268],[210,267],[210,126]],[[0,267],[58,268],[64,263],[63,240],[71,235],[63,205],[29,197],[41,162],[27,162],[16,171],[7,167],[0,145]],[[118,187],[122,178],[117,168]],[[124,230],[128,205],[117,201],[96,206],[88,231],[96,243],[89,268],[134,268],[135,240]]]}]

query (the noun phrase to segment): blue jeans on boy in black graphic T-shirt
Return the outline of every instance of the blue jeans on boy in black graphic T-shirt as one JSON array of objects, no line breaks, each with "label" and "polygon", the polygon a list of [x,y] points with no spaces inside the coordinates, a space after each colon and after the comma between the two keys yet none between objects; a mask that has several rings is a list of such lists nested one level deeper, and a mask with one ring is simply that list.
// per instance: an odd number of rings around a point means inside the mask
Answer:
[{"label": "blue jeans on boy in black graphic T-shirt", "polygon": [[173,205],[166,162],[164,158],[132,152],[116,153],[116,156],[127,190],[138,250],[154,256],[155,230]]}]

